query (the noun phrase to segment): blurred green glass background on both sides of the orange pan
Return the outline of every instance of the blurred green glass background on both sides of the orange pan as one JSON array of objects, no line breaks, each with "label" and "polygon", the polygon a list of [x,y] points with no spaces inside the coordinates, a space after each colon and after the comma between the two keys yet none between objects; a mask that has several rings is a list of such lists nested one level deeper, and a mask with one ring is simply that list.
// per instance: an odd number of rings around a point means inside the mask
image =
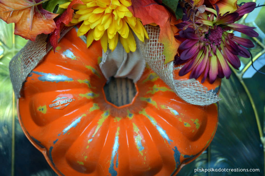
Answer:
[{"label": "blurred green glass background on both sides of the orange pan", "polygon": [[[249,1],[238,1],[241,2]],[[265,0],[257,1],[264,4]],[[244,16],[241,24],[257,27],[251,38],[253,65],[265,72],[265,7]],[[45,158],[25,137],[16,114],[8,64],[27,42],[14,35],[14,25],[0,21],[0,173],[1,176],[53,176]],[[235,35],[241,35],[235,33]],[[242,37],[247,37],[246,35]],[[250,58],[240,58],[241,67],[223,79],[219,102],[219,124],[213,141],[195,161],[178,175],[264,175],[265,75],[251,66]],[[259,172],[194,172],[197,168],[259,169]]]}]

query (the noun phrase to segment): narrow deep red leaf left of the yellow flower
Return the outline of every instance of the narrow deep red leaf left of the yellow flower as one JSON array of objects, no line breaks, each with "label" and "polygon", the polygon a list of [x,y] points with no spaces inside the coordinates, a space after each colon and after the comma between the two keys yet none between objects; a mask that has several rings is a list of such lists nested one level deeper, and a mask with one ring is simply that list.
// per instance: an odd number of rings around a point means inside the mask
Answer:
[{"label": "narrow deep red leaf left of the yellow flower", "polygon": [[58,40],[60,38],[60,31],[63,28],[64,24],[68,25],[70,21],[72,21],[74,16],[74,10],[72,9],[73,5],[75,4],[83,4],[81,0],[73,0],[67,10],[58,18],[55,19],[55,24],[57,29],[55,29],[49,37],[48,43],[51,43],[53,50],[55,52],[56,47],[58,46]]}]

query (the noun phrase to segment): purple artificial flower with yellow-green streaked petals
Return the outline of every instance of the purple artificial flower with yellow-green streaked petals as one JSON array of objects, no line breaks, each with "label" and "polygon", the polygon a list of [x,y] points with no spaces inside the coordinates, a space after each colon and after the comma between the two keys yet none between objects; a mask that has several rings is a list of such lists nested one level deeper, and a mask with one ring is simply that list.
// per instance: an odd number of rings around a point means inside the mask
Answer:
[{"label": "purple artificial flower with yellow-green streaked petals", "polygon": [[255,5],[254,2],[248,2],[235,12],[227,12],[224,15],[220,15],[218,6],[216,10],[206,7],[203,13],[191,8],[193,11],[190,19],[194,21],[183,21],[176,25],[182,29],[176,38],[183,42],[179,46],[180,57],[176,57],[176,62],[186,62],[179,75],[191,72],[189,78],[197,79],[203,74],[201,82],[209,76],[210,83],[217,77],[225,76],[228,79],[231,75],[228,63],[238,69],[240,60],[237,55],[249,58],[250,54],[246,48],[254,47],[251,40],[237,37],[229,31],[257,37],[258,33],[253,30],[255,27],[234,23],[244,14],[253,11]]}]

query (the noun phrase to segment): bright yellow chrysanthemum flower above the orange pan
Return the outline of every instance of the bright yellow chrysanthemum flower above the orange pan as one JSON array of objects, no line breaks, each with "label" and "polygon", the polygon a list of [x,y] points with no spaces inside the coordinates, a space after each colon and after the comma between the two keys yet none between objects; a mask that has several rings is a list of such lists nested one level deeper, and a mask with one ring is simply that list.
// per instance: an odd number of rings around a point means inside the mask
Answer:
[{"label": "bright yellow chrysanthemum flower above the orange pan", "polygon": [[[70,0],[72,1],[72,0]],[[127,7],[131,6],[131,0],[81,0],[84,4],[74,6],[78,10],[72,20],[72,24],[83,21],[77,35],[81,36],[88,32],[87,47],[93,40],[101,41],[104,52],[109,49],[112,51],[116,48],[118,38],[127,53],[135,52],[136,43],[131,32],[140,41],[144,41],[144,37],[148,38],[139,18],[133,16]],[[67,8],[70,2],[60,5],[61,8]],[[129,27],[129,26],[130,27]]]}]

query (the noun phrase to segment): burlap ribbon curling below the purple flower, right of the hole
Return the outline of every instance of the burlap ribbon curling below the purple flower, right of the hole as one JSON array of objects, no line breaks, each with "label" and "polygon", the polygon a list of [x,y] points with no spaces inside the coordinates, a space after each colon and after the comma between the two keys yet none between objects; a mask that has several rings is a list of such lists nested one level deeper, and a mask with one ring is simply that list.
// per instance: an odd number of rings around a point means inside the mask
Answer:
[{"label": "burlap ribbon curling below the purple flower, right of the hole", "polygon": [[220,100],[214,90],[207,90],[198,80],[178,80],[174,75],[173,61],[165,63],[164,45],[158,43],[159,26],[145,25],[149,40],[140,42],[140,50],[146,63],[184,101],[195,105],[210,105]]}]

